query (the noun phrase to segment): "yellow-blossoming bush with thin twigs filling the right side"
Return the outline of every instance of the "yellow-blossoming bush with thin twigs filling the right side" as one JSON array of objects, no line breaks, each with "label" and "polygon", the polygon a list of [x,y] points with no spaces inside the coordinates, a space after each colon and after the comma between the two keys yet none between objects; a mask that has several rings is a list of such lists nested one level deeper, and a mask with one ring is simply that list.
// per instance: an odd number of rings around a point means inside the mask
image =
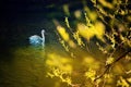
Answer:
[{"label": "yellow-blossoming bush with thin twigs filling the right side", "polygon": [[[69,87],[130,87],[130,1],[91,1],[93,10],[84,1],[85,12],[74,12],[74,28],[68,17],[67,26],[53,20],[59,41],[68,55],[47,53],[47,76],[57,77]],[[83,22],[80,20],[82,14]]]}]

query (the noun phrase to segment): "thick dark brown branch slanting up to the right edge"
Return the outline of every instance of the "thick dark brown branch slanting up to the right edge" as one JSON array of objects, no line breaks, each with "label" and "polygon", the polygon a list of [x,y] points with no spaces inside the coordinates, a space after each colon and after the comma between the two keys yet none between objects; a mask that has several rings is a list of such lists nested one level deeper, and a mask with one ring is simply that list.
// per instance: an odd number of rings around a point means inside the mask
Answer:
[{"label": "thick dark brown branch slanting up to the right edge", "polygon": [[110,67],[111,67],[115,63],[117,63],[118,61],[120,61],[120,60],[121,60],[123,57],[126,57],[129,52],[131,52],[131,48],[130,48],[127,52],[124,52],[123,54],[121,54],[118,59],[116,59],[111,64],[106,65],[106,70],[104,71],[104,73],[103,73],[102,75],[97,76],[97,77],[95,78],[95,80],[97,80],[98,78],[103,77],[103,76],[110,70]]}]

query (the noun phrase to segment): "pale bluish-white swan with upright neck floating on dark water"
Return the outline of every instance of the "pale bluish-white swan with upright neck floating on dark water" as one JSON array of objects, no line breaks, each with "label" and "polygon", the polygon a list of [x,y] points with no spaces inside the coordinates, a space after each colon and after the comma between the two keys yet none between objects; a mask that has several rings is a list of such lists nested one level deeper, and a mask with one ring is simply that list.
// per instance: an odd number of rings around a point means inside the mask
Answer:
[{"label": "pale bluish-white swan with upright neck floating on dark water", "polygon": [[45,47],[45,30],[41,30],[41,37],[38,35],[33,35],[29,37],[29,44],[33,46],[43,46]]}]

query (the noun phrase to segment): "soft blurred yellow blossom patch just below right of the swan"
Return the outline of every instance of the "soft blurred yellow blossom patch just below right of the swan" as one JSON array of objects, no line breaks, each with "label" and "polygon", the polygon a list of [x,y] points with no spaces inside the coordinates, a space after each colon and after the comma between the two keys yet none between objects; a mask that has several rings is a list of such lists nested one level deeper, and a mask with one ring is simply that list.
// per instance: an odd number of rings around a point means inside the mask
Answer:
[{"label": "soft blurred yellow blossom patch just below right of the swan", "polygon": [[70,58],[66,58],[63,55],[57,53],[47,54],[46,64],[50,67],[58,67],[64,72],[72,72],[72,65]]}]

